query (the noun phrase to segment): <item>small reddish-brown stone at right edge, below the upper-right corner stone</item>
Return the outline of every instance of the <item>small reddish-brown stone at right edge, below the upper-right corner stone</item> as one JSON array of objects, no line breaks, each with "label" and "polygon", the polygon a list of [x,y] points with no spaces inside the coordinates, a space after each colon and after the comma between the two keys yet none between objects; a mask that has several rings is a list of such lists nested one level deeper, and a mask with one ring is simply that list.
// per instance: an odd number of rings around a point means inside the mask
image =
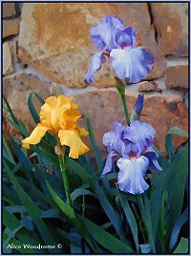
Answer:
[{"label": "small reddish-brown stone at right edge, below the upper-right corner stone", "polygon": [[170,66],[166,69],[167,88],[188,89],[188,65]]}]

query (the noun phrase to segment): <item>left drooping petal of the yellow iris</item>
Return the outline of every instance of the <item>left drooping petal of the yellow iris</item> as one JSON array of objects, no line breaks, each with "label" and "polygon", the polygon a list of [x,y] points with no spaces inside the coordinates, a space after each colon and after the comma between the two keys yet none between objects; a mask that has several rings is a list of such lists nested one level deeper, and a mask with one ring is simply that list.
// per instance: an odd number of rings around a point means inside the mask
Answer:
[{"label": "left drooping petal of the yellow iris", "polygon": [[48,130],[50,130],[49,127],[38,124],[33,129],[31,136],[22,140],[23,146],[29,149],[30,144],[32,145],[38,144],[40,142],[40,139],[42,139],[45,136]]}]

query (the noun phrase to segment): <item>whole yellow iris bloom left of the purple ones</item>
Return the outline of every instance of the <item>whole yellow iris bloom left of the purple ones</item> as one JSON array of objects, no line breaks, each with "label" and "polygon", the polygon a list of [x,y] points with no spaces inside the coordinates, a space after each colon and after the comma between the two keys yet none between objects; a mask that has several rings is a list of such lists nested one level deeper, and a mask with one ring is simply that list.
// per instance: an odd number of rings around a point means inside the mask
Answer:
[{"label": "whole yellow iris bloom left of the purple ones", "polygon": [[31,136],[22,140],[25,148],[29,149],[30,144],[39,143],[47,131],[52,131],[61,145],[70,147],[69,157],[78,159],[79,155],[89,151],[89,148],[80,139],[80,137],[87,136],[88,132],[76,123],[81,115],[71,97],[48,97],[41,107],[39,116],[40,122],[32,131]]}]

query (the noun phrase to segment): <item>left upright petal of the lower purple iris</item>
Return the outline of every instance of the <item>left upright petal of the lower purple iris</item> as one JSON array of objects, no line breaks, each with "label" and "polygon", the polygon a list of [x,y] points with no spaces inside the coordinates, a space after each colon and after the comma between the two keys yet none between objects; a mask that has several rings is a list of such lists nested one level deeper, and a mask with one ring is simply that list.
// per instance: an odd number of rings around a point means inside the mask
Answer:
[{"label": "left upright petal of the lower purple iris", "polygon": [[103,136],[103,144],[107,146],[108,151],[114,151],[120,156],[124,156],[125,151],[125,143],[121,139],[121,134],[124,130],[124,126],[122,126],[119,122],[114,123],[115,130],[110,131],[104,134]]}]

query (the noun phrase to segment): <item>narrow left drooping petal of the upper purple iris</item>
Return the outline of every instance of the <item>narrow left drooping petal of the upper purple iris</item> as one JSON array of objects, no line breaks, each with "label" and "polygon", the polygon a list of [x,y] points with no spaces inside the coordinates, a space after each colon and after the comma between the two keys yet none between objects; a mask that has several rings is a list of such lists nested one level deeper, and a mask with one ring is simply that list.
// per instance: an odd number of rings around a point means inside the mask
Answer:
[{"label": "narrow left drooping petal of the upper purple iris", "polygon": [[105,56],[102,53],[96,53],[91,62],[88,69],[87,74],[85,75],[85,82],[90,84],[95,82],[94,74],[96,71],[100,70],[101,64],[103,64],[106,61]]}]

